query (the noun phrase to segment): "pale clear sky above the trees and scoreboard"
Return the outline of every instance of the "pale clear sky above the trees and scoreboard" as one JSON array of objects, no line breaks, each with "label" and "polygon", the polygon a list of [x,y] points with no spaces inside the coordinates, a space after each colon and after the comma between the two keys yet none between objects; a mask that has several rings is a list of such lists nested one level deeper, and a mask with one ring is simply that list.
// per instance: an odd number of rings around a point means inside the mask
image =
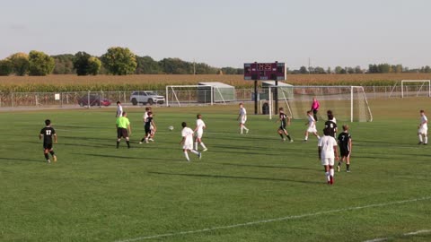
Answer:
[{"label": "pale clear sky above the trees and scoreboard", "polygon": [[14,0],[0,7],[0,59],[130,48],[222,67],[431,65],[429,0]]}]

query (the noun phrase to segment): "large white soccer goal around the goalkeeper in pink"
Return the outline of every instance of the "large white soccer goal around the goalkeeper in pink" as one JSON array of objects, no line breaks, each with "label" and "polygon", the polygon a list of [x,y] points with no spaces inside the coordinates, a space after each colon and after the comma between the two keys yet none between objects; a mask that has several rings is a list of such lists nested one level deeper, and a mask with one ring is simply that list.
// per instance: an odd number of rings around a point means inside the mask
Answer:
[{"label": "large white soccer goal around the goalkeeper in pink", "polygon": [[332,110],[339,121],[371,122],[373,115],[362,86],[292,86],[278,88],[278,100],[274,100],[276,87],[269,87],[269,118],[274,115],[275,101],[285,113],[295,119],[306,118],[311,109],[312,98],[320,102],[318,120],[326,120],[326,111]]}]

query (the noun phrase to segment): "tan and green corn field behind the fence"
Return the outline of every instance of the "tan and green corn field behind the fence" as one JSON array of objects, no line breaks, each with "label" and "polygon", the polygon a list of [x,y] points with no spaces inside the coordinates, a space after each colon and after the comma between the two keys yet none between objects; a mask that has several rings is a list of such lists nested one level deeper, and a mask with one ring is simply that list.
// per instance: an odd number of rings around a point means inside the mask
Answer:
[{"label": "tan and green corn field behind the fence", "polygon": [[[388,74],[291,74],[287,83],[293,85],[361,85],[391,86],[401,80],[430,80],[431,73]],[[0,76],[0,93],[60,92],[60,91],[134,91],[164,90],[166,85],[194,85],[198,82],[223,82],[236,88],[251,88],[254,82],[244,81],[242,75],[48,75]]]}]

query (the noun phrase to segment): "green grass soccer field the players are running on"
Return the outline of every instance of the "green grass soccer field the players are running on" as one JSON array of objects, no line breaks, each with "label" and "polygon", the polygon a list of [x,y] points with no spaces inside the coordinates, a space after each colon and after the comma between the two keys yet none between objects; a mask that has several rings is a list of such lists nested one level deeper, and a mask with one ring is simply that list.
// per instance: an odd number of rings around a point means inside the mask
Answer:
[{"label": "green grass soccer field the players are running on", "polygon": [[[316,138],[302,143],[305,120],[282,143],[251,105],[243,135],[236,105],[154,108],[144,144],[145,110],[126,107],[132,149],[115,148],[113,108],[0,112],[0,241],[431,241],[431,148],[417,144],[430,104],[370,100],[374,122],[349,124],[352,172],[343,165],[333,186]],[[180,123],[194,128],[197,113],[208,151],[187,162]],[[46,118],[57,163],[38,139]]]}]

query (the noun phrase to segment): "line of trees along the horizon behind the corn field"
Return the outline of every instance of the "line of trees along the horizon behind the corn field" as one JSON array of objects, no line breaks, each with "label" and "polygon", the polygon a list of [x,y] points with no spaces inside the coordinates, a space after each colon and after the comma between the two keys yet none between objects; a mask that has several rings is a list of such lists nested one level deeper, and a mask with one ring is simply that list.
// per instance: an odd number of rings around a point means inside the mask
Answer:
[{"label": "line of trees along the horizon behind the corn field", "polygon": [[[47,74],[243,74],[242,68],[216,68],[205,63],[192,63],[180,58],[163,58],[154,60],[151,56],[136,56],[128,48],[109,48],[102,56],[92,56],[84,51],[72,54],[48,56],[31,50],[29,54],[15,53],[0,60],[0,75],[47,75]],[[287,69],[287,73],[431,73],[429,65],[409,69],[402,65],[371,64],[368,69],[361,66],[334,69],[321,66],[301,66],[297,70]]]}]

